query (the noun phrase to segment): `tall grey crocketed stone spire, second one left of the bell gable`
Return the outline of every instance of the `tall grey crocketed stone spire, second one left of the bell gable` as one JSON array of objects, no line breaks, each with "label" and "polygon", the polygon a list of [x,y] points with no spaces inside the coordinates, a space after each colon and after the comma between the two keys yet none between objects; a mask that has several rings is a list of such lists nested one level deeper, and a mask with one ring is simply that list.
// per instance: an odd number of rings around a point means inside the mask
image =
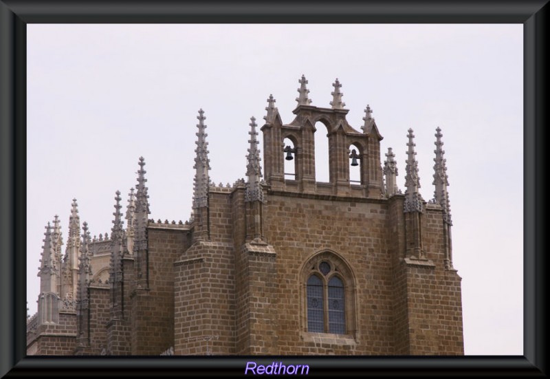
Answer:
[{"label": "tall grey crocketed stone spire, second one left of the bell gable", "polygon": [[206,125],[204,124],[206,117],[203,116],[203,113],[204,111],[199,109],[199,116],[197,116],[199,119],[199,124],[197,124],[199,132],[196,133],[198,137],[197,142],[195,142],[197,144],[197,149],[195,149],[197,157],[195,158],[195,166],[193,166],[193,169],[196,170],[195,186],[193,188],[194,209],[208,207],[208,187],[210,184],[208,170],[210,170],[210,160],[208,159],[208,142],[206,142],[208,134],[204,132],[206,129]]}]

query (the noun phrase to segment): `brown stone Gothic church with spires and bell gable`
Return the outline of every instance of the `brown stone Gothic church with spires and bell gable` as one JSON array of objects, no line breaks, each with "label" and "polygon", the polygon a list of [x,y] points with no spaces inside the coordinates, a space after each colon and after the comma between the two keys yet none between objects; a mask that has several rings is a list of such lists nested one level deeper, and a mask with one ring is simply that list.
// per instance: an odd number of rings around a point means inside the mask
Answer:
[{"label": "brown stone Gothic church with spires and bell gable", "polygon": [[[47,224],[29,355],[463,354],[441,130],[426,202],[412,129],[402,192],[371,107],[359,131],[338,79],[330,107],[299,83],[294,120],[273,96],[263,125],[250,119],[246,176],[231,186],[210,179],[199,110],[188,221],[149,219],[139,158],[110,232],[91,238],[76,199],[64,252],[59,217]],[[329,182],[316,179],[315,133],[328,139]]]}]

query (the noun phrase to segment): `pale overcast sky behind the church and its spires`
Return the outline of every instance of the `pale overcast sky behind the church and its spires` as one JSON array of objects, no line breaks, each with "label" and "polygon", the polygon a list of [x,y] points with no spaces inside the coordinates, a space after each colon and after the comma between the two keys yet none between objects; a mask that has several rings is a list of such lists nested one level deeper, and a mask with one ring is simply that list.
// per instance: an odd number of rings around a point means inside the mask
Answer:
[{"label": "pale overcast sky behind the church and its spires", "polygon": [[27,36],[31,315],[45,226],[59,215],[67,241],[73,198],[92,236],[110,234],[115,191],[124,212],[143,156],[150,218],[189,219],[198,110],[210,178],[233,184],[245,177],[250,117],[261,126],[273,94],[291,122],[304,74],[317,107],[330,107],[340,80],[358,131],[371,106],[402,191],[414,130],[426,200],[441,128],[465,354],[523,354],[521,24],[29,24]]}]

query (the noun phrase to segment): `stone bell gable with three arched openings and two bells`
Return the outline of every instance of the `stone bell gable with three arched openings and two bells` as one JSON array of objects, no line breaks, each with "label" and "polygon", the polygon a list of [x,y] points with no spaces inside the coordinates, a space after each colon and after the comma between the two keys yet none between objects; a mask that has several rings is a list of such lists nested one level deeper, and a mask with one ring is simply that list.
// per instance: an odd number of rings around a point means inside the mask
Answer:
[{"label": "stone bell gable with three arched openings and two bells", "polygon": [[[362,132],[354,129],[346,119],[349,109],[342,102],[344,95],[338,78],[333,83],[330,108],[311,105],[305,76],[298,88],[296,115],[289,124],[283,124],[273,96],[267,99],[267,116],[261,128],[264,141],[265,180],[274,191],[317,193],[380,198],[382,196],[382,165],[380,140],[371,109],[367,106]],[[317,128],[316,124],[324,128]],[[325,133],[329,142],[329,183],[316,177],[315,133]],[[285,144],[285,140],[294,146]],[[294,160],[294,179],[285,177],[285,160]],[[360,166],[358,183],[350,180],[350,165]]]}]

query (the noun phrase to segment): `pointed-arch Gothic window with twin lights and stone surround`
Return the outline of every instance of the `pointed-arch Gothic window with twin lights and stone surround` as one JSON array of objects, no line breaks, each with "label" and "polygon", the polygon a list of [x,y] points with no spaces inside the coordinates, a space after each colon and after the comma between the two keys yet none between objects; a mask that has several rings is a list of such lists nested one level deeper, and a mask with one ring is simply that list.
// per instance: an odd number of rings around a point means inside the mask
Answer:
[{"label": "pointed-arch Gothic window with twin lights and stone surround", "polygon": [[353,334],[355,285],[347,263],[332,252],[321,252],[309,259],[302,277],[305,332]]}]

